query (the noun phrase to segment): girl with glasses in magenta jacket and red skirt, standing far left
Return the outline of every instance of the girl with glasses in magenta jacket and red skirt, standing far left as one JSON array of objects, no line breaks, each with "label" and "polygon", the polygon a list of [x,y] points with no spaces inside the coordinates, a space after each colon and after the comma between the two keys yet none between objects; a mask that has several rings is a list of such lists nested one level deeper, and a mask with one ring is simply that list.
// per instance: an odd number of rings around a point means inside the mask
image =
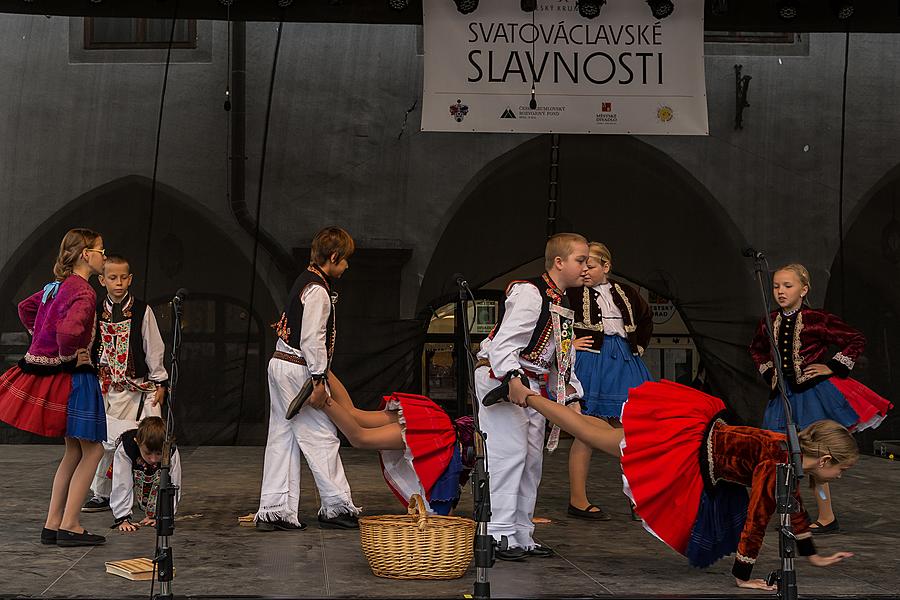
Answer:
[{"label": "girl with glasses in magenta jacket and red skirt, standing far left", "polygon": [[41,543],[93,546],[106,541],[81,526],[81,504],[103,455],[106,411],[91,365],[97,296],[88,280],[103,271],[100,234],[72,229],[53,267],[56,280],[19,304],[31,344],[19,364],[0,375],[0,420],[47,437],[65,437],[53,478]]}]

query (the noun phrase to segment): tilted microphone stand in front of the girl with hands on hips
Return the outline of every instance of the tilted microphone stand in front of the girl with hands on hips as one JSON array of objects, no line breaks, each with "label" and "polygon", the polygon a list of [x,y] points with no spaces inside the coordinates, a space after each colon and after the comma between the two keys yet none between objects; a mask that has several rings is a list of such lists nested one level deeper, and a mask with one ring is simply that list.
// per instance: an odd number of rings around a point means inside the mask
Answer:
[{"label": "tilted microphone stand in front of the girl with hands on hips", "polygon": [[781,557],[781,568],[773,571],[766,578],[769,585],[778,586],[777,597],[781,600],[797,600],[797,572],[794,570],[794,559],[797,556],[797,538],[791,525],[791,514],[799,512],[800,507],[794,500],[797,485],[803,479],[803,461],[800,456],[800,440],[797,437],[797,426],[785,391],[784,371],[781,368],[781,355],[772,329],[772,318],[769,310],[770,287],[766,285],[769,274],[769,262],[765,254],[748,248],[744,256],[753,258],[755,262],[756,280],[762,298],[766,332],[769,336],[769,347],[775,369],[775,388],[781,397],[784,408],[785,437],[789,462],[777,465],[775,481],[775,504],[781,526],[778,529],[778,554]]}]

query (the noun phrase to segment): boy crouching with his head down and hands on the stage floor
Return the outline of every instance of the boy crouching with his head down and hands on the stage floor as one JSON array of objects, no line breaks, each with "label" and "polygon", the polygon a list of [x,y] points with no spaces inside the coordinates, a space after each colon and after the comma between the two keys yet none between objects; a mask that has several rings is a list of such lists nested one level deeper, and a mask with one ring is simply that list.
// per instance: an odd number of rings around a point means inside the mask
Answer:
[{"label": "boy crouching with his head down and hands on the stage floor", "polygon": [[[110,505],[116,519],[114,527],[119,531],[137,531],[144,525],[156,525],[159,467],[165,442],[166,423],[160,417],[147,417],[137,429],[129,429],[116,441]],[[175,495],[177,510],[181,500],[181,457],[174,445],[169,452],[169,476],[172,483],[178,486]],[[137,523],[132,521],[135,500],[146,515]]]}]

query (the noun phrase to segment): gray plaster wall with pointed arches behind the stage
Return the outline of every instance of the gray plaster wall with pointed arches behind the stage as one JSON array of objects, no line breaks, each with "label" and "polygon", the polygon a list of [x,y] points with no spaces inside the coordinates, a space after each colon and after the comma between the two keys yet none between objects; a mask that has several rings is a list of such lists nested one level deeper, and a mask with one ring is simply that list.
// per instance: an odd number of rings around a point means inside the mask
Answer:
[{"label": "gray plaster wall with pointed arches behind the stage", "polygon": [[[91,54],[81,47],[80,32],[77,19],[0,16],[0,269],[73,199],[110,181],[152,175],[164,53]],[[202,207],[250,259],[252,237],[229,206],[230,117],[222,108],[227,28],[221,22],[200,23],[198,32],[197,50],[173,54],[158,180]],[[288,252],[306,247],[316,230],[333,223],[348,229],[361,247],[411,250],[397,294],[401,319],[418,315],[429,300],[419,295],[429,261],[475,183],[490,174],[495,160],[533,137],[419,131],[421,35],[415,26],[284,26],[262,203],[263,230]],[[275,39],[275,24],[248,24],[246,198],[251,214]],[[814,305],[825,299],[839,244],[845,39],[843,34],[804,34],[782,46],[707,44],[710,135],[640,138],[705,187],[736,231],[767,250],[773,266],[804,262],[812,272]],[[900,163],[895,101],[900,74],[893,68],[898,50],[895,35],[850,37],[845,231]],[[740,131],[733,129],[737,63],[753,78]],[[565,136],[561,153],[564,178]],[[602,193],[602,176],[603,165],[598,165],[597,189],[566,188],[563,179],[564,213],[566,194]],[[666,191],[663,186],[656,197],[604,201],[645,203],[653,218],[653,207],[666,202]],[[522,202],[540,206],[546,198],[547,188],[541,186]],[[598,211],[602,214],[599,203]],[[576,223],[602,218],[565,216]],[[509,220],[514,223],[515,215]],[[489,255],[490,228],[496,224],[485,220],[478,226]],[[202,231],[204,224],[197,227]],[[662,253],[679,243],[678,235],[636,238],[634,247],[615,250]],[[216,260],[215,248],[209,249],[208,260]],[[289,282],[265,252],[258,272],[280,302]],[[896,280],[897,275],[894,267],[884,276]],[[234,290],[235,296],[247,293]]]}]

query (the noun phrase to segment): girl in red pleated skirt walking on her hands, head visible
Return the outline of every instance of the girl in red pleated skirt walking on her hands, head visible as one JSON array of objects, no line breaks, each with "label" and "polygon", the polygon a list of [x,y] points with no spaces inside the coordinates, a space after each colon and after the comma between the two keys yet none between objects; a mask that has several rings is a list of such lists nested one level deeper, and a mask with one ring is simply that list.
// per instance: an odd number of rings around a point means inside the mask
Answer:
[{"label": "girl in red pleated skirt walking on her hands, head visible", "polygon": [[[773,589],[751,573],[775,512],[775,466],[788,460],[784,435],[728,425],[721,400],[670,381],[629,392],[623,429],[534,394],[524,403],[593,448],[621,456],[625,493],[644,528],[691,565],[734,553],[739,587]],[[817,481],[839,478],[859,457],[853,436],[833,421],[800,432],[800,446],[803,468]],[[791,522],[799,554],[813,565],[852,556],[817,554],[802,508]]]}]

